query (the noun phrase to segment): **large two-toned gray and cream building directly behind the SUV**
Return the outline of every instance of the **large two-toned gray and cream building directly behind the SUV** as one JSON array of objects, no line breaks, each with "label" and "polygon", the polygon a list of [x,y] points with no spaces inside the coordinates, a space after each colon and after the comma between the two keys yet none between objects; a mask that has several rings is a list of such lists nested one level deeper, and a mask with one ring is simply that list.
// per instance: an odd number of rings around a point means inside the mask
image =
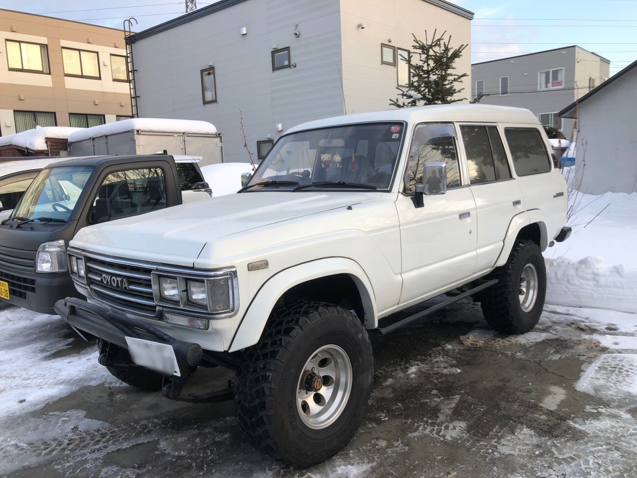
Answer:
[{"label": "large two-toned gray and cream building directly behind the SUV", "polygon": [[390,108],[412,33],[469,45],[471,18],[445,0],[222,0],[132,36],[136,114],[210,121],[248,161],[241,112],[256,160],[301,122]]}]

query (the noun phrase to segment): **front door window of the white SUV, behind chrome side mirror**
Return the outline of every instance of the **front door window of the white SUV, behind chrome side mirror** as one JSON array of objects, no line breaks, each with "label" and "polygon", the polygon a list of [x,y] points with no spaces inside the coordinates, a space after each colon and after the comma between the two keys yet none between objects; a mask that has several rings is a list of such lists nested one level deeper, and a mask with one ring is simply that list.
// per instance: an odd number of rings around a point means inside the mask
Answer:
[{"label": "front door window of the white SUV, behind chrome side mirror", "polygon": [[453,124],[429,123],[416,126],[404,175],[405,194],[415,193],[416,185],[422,184],[424,164],[436,161],[447,164],[447,189],[459,187],[460,168]]}]

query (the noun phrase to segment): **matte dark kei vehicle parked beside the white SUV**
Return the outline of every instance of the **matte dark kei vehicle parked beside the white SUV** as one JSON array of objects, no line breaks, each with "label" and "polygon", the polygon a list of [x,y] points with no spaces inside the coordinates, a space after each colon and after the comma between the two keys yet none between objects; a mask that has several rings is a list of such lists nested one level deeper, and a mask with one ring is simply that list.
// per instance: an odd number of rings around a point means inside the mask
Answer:
[{"label": "matte dark kei vehicle parked beside the white SUV", "polygon": [[[176,159],[180,158],[180,159]],[[92,156],[50,164],[0,223],[0,301],[55,314],[78,297],[66,247],[85,226],[210,197],[196,160]]]}]

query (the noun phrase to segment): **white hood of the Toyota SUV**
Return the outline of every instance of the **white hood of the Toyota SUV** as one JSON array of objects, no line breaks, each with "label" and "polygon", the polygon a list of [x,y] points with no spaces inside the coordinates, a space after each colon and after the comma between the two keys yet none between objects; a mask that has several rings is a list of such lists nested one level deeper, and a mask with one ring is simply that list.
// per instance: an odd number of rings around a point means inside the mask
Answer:
[{"label": "white hood of the Toyota SUV", "polygon": [[376,199],[378,192],[245,192],[81,229],[71,247],[192,267],[208,242]]}]

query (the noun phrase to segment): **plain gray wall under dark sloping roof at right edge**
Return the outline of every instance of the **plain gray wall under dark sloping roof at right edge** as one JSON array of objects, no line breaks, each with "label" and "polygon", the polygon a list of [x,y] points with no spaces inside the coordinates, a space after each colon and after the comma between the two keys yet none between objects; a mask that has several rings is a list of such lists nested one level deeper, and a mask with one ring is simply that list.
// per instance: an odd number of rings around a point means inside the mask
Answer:
[{"label": "plain gray wall under dark sloping roof at right edge", "polygon": [[580,105],[575,153],[580,191],[637,191],[636,91],[637,69],[633,69]]}]

